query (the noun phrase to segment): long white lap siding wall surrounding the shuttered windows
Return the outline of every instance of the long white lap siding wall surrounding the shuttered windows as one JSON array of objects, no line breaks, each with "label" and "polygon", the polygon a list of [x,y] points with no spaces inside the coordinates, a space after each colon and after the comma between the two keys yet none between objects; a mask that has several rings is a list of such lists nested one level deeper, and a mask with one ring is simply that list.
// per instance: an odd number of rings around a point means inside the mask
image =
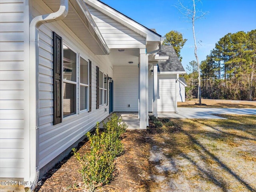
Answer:
[{"label": "long white lap siding wall surrounding the shuttered windows", "polygon": [[[42,6],[37,6],[36,1],[32,6],[33,16],[42,14]],[[53,125],[53,31],[83,58],[92,61],[92,111],[68,116],[56,125]],[[108,116],[108,106],[96,110],[96,66],[109,76],[113,76],[113,70],[108,56],[94,55],[61,21],[40,26],[39,46],[39,167],[43,168],[91,130],[97,121]]]}]

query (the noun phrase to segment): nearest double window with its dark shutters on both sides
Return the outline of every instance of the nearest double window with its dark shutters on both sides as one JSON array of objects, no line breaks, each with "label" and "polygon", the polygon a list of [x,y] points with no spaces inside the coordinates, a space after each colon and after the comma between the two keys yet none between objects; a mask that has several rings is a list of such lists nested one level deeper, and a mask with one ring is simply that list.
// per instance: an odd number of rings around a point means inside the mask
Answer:
[{"label": "nearest double window with its dark shutters on both sides", "polygon": [[54,125],[62,122],[62,117],[91,111],[91,67],[90,60],[79,57],[53,32]]}]

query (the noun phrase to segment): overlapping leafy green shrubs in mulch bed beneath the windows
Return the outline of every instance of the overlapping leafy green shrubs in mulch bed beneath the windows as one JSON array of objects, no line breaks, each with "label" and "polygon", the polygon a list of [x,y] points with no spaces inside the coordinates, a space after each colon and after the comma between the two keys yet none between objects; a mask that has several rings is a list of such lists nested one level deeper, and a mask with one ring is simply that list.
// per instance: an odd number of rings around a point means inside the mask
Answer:
[{"label": "overlapping leafy green shrubs in mulch bed beneath the windows", "polygon": [[83,182],[90,191],[107,184],[114,178],[114,160],[124,151],[121,136],[127,128],[127,125],[121,122],[122,119],[113,114],[111,120],[106,124],[103,123],[104,131],[101,134],[97,122],[95,133],[86,134],[90,141],[90,153],[81,157],[75,148],[72,149],[82,166],[78,172],[82,174]]}]

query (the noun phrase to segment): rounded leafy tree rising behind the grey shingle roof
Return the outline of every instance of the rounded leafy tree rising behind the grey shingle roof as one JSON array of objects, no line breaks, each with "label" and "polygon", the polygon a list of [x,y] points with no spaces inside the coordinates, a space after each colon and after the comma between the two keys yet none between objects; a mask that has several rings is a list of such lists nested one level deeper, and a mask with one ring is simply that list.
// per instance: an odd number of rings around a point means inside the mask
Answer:
[{"label": "rounded leafy tree rising behind the grey shingle roof", "polygon": [[187,39],[183,39],[183,36],[180,32],[172,30],[166,33],[163,45],[172,45],[174,50],[176,51],[176,54],[178,55],[178,58],[181,61],[182,56],[180,56],[180,50],[182,49],[186,41]]}]

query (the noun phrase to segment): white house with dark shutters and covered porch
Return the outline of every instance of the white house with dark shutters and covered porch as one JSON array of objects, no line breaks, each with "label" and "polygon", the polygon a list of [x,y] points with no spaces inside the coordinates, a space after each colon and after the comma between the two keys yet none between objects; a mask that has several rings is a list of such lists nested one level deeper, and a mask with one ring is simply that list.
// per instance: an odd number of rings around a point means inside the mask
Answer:
[{"label": "white house with dark shutters and covered porch", "polygon": [[177,73],[158,75],[153,30],[98,0],[0,3],[0,178],[37,181],[114,111],[140,129],[168,111]]}]

